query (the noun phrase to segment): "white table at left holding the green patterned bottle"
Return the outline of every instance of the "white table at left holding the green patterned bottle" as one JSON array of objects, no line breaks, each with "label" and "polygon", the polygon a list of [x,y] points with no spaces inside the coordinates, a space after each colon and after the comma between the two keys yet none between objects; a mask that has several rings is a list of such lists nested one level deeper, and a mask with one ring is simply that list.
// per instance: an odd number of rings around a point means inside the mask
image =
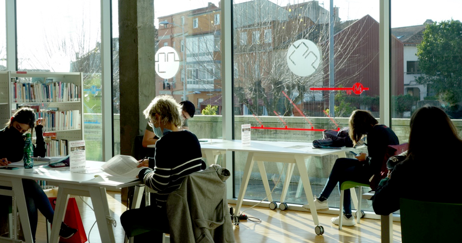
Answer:
[{"label": "white table at left holding the green patterned bottle", "polygon": [[[86,165],[90,169],[100,168],[104,162],[87,161]],[[48,174],[31,173],[36,169],[49,172]],[[51,170],[49,166],[35,167],[32,169],[20,168],[18,170],[0,170],[0,185],[12,187],[11,192],[6,192],[5,195],[14,196],[18,205],[19,215],[21,217],[21,225],[24,230],[24,238],[27,243],[32,243],[32,234],[30,232],[29,217],[27,214],[27,206],[24,197],[22,179],[45,180],[58,185],[58,195],[56,199],[55,215],[53,217],[54,225],[61,225],[64,220],[67,201],[69,195],[90,196],[95,212],[95,217],[98,224],[101,241],[103,243],[115,243],[114,232],[112,225],[108,224],[106,217],[110,216],[108,201],[106,198],[106,189],[120,189],[132,185],[140,184],[140,182],[120,183],[120,184],[81,184],[81,181],[95,178],[96,174],[84,174],[70,172],[69,167],[64,167],[67,170]],[[60,168],[61,169],[61,168]],[[3,191],[0,191],[0,193]],[[8,193],[8,194],[7,194]],[[51,243],[58,243],[60,227],[53,227],[51,230]]]}]

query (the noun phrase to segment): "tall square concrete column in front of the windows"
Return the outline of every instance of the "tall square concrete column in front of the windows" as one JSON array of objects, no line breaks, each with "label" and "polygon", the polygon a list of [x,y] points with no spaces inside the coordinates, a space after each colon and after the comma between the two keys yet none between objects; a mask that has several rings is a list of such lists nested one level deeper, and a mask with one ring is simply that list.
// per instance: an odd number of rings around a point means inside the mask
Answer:
[{"label": "tall square concrete column in front of the windows", "polygon": [[142,111],[156,94],[154,0],[118,1],[121,154],[131,154],[146,128]]}]

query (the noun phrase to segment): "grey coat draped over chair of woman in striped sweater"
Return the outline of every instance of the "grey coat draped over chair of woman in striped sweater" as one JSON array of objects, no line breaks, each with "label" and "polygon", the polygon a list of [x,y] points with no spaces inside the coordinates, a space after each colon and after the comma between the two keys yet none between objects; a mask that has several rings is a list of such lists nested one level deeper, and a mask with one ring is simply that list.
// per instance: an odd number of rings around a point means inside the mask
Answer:
[{"label": "grey coat draped over chair of woman in striped sweater", "polygon": [[219,165],[186,176],[167,199],[170,241],[173,243],[233,243],[226,199],[230,172]]}]

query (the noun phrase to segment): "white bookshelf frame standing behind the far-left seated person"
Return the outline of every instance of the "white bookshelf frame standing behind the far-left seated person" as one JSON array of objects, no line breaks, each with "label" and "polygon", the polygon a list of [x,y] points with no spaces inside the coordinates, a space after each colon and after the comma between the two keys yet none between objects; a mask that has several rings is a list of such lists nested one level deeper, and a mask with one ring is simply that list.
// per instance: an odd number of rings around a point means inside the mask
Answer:
[{"label": "white bookshelf frame standing behind the far-left seated person", "polygon": [[[14,83],[12,79],[19,80],[20,83],[28,83],[32,78],[45,80],[53,79],[53,83],[73,83],[80,86],[80,101],[56,101],[56,102],[13,102]],[[20,105],[41,105],[47,107],[57,107],[58,111],[79,110],[80,128],[68,130],[46,130],[45,132],[55,132],[56,139],[65,139],[67,142],[83,140],[84,137],[84,114],[83,114],[83,77],[80,72],[32,72],[32,71],[4,71],[0,72],[0,119],[9,119],[12,116],[12,109],[18,109]],[[68,151],[67,151],[68,152]]]}]

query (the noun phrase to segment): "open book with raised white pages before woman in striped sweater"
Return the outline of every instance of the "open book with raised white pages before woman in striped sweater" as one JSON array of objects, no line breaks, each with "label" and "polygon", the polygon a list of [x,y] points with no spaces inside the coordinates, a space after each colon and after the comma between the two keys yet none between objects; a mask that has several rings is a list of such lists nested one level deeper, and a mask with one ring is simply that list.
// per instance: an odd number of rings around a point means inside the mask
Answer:
[{"label": "open book with raised white pages before woman in striped sweater", "polygon": [[104,163],[101,169],[112,176],[136,178],[138,172],[146,168],[144,166],[136,167],[139,164],[138,160],[132,156],[118,154]]}]

